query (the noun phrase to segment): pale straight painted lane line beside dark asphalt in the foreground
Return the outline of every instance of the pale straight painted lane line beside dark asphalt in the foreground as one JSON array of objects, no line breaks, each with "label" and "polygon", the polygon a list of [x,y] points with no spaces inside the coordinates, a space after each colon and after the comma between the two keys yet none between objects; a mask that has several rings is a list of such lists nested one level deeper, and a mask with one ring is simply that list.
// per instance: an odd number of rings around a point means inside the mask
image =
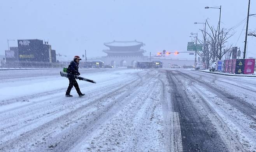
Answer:
[{"label": "pale straight painted lane line beside dark asphalt in the foreground", "polygon": [[179,113],[171,112],[171,152],[183,152]]}]

